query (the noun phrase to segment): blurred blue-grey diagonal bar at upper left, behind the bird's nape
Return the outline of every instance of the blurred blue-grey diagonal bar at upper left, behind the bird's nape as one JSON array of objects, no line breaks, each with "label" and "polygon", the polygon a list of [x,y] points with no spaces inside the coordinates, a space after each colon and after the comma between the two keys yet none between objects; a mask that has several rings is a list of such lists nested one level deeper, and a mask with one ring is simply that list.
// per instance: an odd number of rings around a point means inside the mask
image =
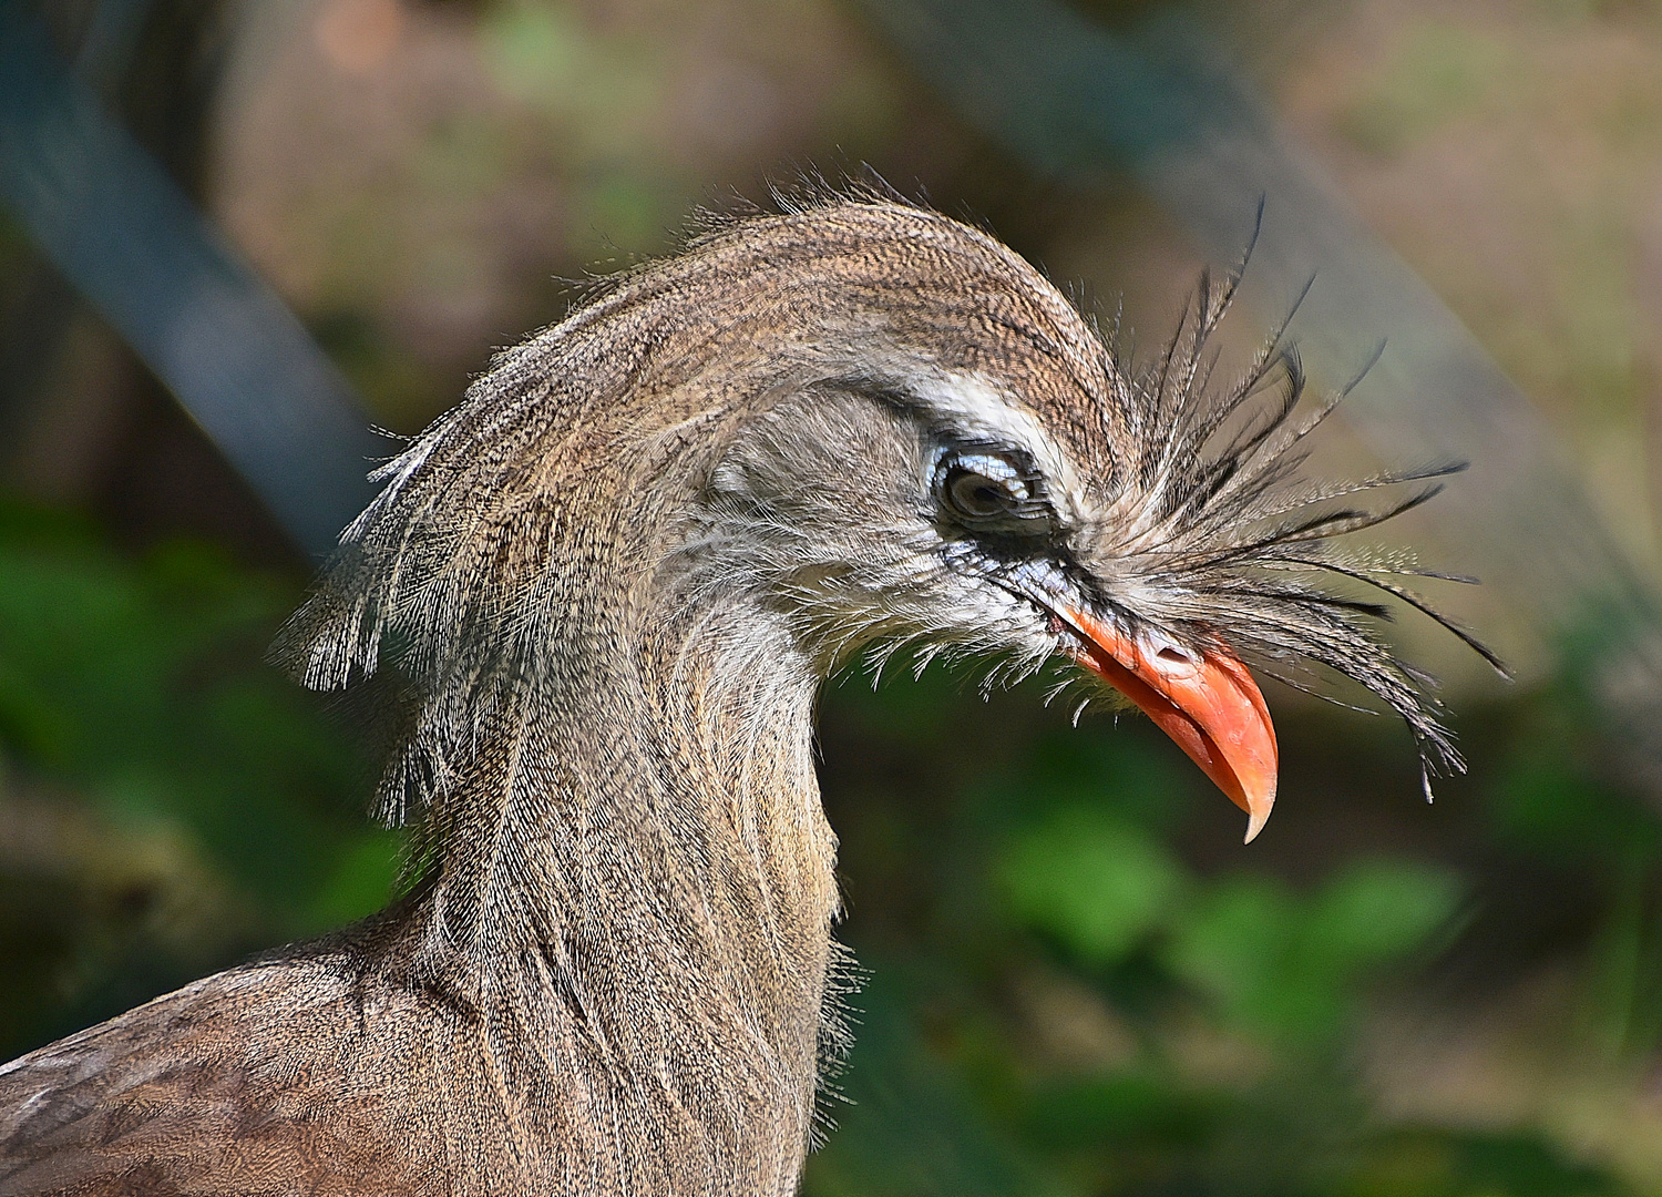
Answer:
[{"label": "blurred blue-grey diagonal bar at upper left, behind the bird's nape", "polygon": [[269,286],[0,0],[0,200],[312,555],[387,446]]}]

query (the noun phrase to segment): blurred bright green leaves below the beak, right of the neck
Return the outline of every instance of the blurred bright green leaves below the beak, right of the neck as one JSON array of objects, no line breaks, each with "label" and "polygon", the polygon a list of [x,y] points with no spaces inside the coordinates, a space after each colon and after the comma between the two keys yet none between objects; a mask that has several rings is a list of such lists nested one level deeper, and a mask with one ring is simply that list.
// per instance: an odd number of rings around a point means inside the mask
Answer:
[{"label": "blurred bright green leaves below the beak, right of the neck", "polygon": [[[1358,1034],[1458,941],[1481,878],[1383,846],[1335,855],[1315,879],[1260,850],[1203,868],[1185,841],[1212,815],[1205,781],[1147,725],[1059,735],[1019,713],[1032,693],[981,715],[969,690],[937,677],[829,705],[846,868],[881,826],[892,873],[849,878],[846,938],[873,981],[839,1079],[853,1106],[833,1104],[841,1127],[809,1197],[1630,1192],[1537,1127],[1373,1109]],[[934,765],[919,780],[876,751],[839,798],[838,753],[886,740]],[[1647,811],[1561,743],[1516,743],[1496,765],[1497,835],[1539,833],[1601,868],[1649,860]],[[1645,943],[1627,959],[1659,956]]]}]

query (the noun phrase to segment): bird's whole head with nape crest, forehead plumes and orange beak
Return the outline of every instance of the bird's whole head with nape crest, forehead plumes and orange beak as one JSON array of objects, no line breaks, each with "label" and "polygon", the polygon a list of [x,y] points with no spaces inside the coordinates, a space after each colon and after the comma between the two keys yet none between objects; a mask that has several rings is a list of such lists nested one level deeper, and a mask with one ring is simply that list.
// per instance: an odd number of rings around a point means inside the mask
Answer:
[{"label": "bird's whole head with nape crest, forehead plumes and orange beak", "polygon": [[934,213],[834,201],[720,228],[504,354],[391,462],[291,643],[339,685],[394,633],[429,776],[477,740],[480,700],[457,693],[500,662],[570,675],[573,645],[665,623],[730,680],[781,657],[813,682],[904,650],[987,657],[989,682],[1062,658],[1167,732],[1248,840],[1276,790],[1248,662],[1360,683],[1428,778],[1458,768],[1428,678],[1376,632],[1386,608],[1325,580],[1436,617],[1411,562],[1333,537],[1448,470],[1298,480],[1338,396],[1305,397],[1280,336],[1213,384],[1237,281],[1203,279],[1133,367],[1017,254]]}]

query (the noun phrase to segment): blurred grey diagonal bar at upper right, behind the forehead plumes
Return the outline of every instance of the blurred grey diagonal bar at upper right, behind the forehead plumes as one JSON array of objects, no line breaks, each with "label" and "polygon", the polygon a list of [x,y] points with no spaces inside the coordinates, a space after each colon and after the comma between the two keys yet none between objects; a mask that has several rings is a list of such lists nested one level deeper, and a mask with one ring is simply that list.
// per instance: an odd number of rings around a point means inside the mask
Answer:
[{"label": "blurred grey diagonal bar at upper right, behind the forehead plumes", "polygon": [[1213,259],[1240,254],[1263,200],[1248,294],[1281,308],[1316,279],[1318,303],[1301,309],[1296,339],[1328,379],[1350,377],[1386,341],[1345,416],[1386,461],[1473,464],[1439,500],[1463,554],[1547,640],[1594,612],[1655,623],[1649,584],[1614,545],[1529,399],[1350,214],[1265,105],[1208,65],[1192,25],[1168,18],[1119,37],[1057,0],[863,7],[956,110],[1034,170],[1082,185],[1127,171]]}]

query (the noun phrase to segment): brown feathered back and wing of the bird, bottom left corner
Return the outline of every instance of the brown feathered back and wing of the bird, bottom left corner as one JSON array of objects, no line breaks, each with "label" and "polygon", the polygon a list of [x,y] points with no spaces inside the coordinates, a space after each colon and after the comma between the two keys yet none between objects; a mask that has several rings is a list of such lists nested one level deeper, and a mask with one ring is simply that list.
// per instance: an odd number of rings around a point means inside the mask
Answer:
[{"label": "brown feathered back and wing of the bird, bottom left corner", "polygon": [[198,981],[0,1067],[0,1194],[444,1192],[425,1021],[349,959]]}]

